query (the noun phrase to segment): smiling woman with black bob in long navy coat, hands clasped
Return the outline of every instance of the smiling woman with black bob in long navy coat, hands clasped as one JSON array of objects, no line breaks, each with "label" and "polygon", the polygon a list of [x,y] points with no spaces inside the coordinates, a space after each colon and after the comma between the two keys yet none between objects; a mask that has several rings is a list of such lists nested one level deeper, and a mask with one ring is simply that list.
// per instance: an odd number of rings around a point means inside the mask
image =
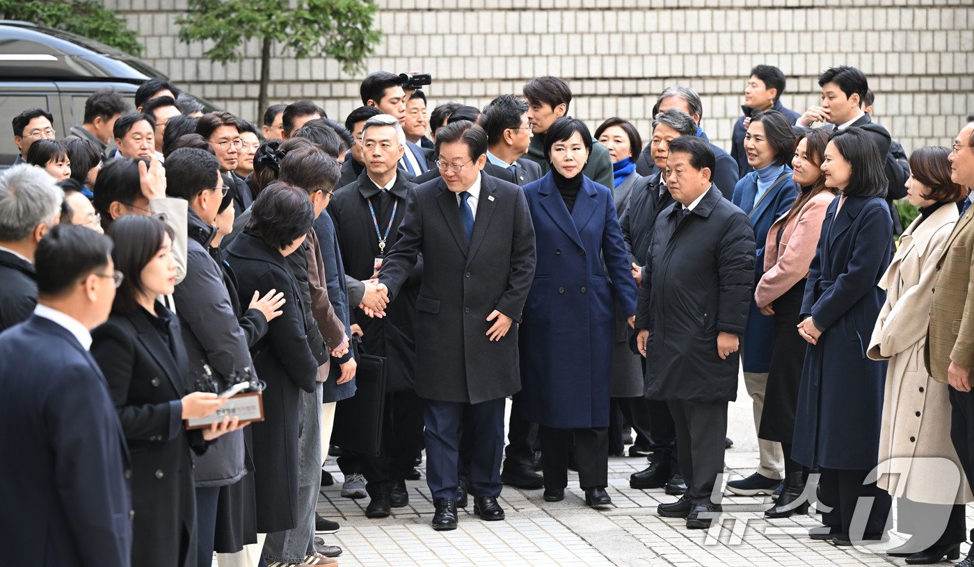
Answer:
[{"label": "smiling woman with black bob in long navy coat, hands clasped", "polygon": [[[825,525],[808,536],[836,546],[885,539],[890,506],[889,494],[867,481],[879,454],[886,363],[866,358],[866,350],[885,298],[879,283],[893,241],[883,159],[872,135],[847,128],[825,147],[825,185],[840,196],[826,211],[798,324],[810,346],[792,458],[821,471]],[[865,525],[852,523],[860,497],[873,500]]]}]

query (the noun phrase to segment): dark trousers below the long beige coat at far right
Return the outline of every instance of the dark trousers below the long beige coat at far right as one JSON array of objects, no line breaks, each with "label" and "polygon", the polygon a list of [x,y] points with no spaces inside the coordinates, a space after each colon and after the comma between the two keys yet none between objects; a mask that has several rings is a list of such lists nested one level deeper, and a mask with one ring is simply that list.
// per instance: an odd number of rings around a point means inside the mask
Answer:
[{"label": "dark trousers below the long beige coat at far right", "polygon": [[910,534],[918,549],[950,546],[967,539],[962,504],[927,504],[908,498],[896,499],[897,530]]}]

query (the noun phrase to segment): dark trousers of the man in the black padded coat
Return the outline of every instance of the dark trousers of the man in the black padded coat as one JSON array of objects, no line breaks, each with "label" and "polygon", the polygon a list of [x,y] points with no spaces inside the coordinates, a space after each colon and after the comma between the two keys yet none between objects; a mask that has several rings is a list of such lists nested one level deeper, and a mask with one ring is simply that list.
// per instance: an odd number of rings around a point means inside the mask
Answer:
[{"label": "dark trousers of the man in the black padded coat", "polygon": [[714,483],[724,473],[728,403],[676,400],[667,405],[673,415],[687,498],[694,504],[710,503]]}]

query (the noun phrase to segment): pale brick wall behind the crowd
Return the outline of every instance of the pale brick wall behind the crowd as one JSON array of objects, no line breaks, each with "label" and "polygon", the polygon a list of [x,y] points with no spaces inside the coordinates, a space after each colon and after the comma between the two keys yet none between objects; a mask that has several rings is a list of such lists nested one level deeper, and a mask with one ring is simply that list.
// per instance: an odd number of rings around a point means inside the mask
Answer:
[{"label": "pale brick wall behind the crowd", "polygon": [[[175,8],[171,8],[172,5]],[[557,75],[575,93],[571,114],[594,128],[611,116],[649,130],[656,95],[683,83],[700,92],[701,123],[729,147],[752,66],[788,76],[784,104],[817,101],[816,78],[835,64],[861,68],[877,93],[876,119],[907,150],[947,145],[974,112],[974,3],[971,0],[380,0],[385,33],[369,70],[433,75],[432,105],[482,107]],[[185,0],[109,0],[145,43],[145,60],[179,86],[248,120],[256,108],[259,46],[226,66],[203,46],[176,39]],[[760,7],[758,7],[760,6]],[[360,104],[358,83],[327,59],[296,60],[276,50],[271,102],[318,101],[339,120]]]}]

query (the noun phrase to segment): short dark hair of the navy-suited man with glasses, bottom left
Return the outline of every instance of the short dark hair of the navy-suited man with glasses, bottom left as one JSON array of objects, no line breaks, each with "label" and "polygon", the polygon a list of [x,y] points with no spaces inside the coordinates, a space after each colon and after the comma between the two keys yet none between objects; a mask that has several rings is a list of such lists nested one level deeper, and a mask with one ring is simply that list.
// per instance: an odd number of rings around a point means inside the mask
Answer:
[{"label": "short dark hair of the navy-suited man with glasses, bottom left", "polygon": [[41,238],[34,253],[37,293],[56,298],[82,279],[108,266],[112,239],[85,227],[57,225]]}]

